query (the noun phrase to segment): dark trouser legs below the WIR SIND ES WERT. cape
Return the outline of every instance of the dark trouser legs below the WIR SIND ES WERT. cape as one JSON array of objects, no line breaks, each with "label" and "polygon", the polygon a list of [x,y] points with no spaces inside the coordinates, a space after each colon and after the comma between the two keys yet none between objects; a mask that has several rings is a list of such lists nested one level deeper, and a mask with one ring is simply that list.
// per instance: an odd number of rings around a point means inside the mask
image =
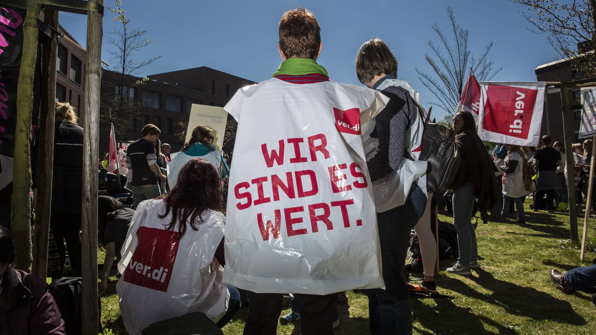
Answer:
[{"label": "dark trouser legs below the WIR SIND ES WERT. cape", "polygon": [[[303,335],[333,335],[333,317],[336,313],[337,293],[318,296],[299,294],[298,309]],[[254,293],[249,291],[249,315],[244,335],[275,335],[281,314],[281,293]]]}]

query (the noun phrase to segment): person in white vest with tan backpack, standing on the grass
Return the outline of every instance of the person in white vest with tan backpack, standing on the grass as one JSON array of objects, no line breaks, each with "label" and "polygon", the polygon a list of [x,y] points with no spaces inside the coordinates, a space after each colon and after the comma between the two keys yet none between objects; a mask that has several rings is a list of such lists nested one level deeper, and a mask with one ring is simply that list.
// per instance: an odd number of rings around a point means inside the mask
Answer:
[{"label": "person in white vest with tan backpack, standing on the grass", "polygon": [[526,196],[532,193],[533,182],[530,173],[530,165],[527,163],[526,156],[522,148],[507,144],[507,157],[505,157],[505,165],[499,166],[505,172],[503,176],[503,207],[501,210],[502,221],[509,213],[511,203],[516,204],[517,210],[517,224],[526,223],[526,215],[524,213],[523,203]]}]

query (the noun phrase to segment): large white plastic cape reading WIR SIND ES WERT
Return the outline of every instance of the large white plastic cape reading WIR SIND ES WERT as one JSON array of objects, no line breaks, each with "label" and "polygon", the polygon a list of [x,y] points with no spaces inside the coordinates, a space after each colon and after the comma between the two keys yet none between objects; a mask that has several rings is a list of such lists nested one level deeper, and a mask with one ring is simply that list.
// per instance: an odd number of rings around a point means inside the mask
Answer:
[{"label": "large white plastic cape reading WIR SIND ES WERT", "polygon": [[308,294],[384,286],[361,124],[388,100],[332,81],[237,91],[224,107],[238,120],[225,283]]}]

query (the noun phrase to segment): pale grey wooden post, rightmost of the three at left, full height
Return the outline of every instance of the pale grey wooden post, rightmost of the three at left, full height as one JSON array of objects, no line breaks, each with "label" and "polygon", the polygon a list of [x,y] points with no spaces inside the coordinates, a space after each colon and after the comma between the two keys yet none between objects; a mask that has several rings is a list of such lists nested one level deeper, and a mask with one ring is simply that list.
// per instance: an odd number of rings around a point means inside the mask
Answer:
[{"label": "pale grey wooden post, rightmost of the three at left, full height", "polygon": [[[88,8],[101,8],[103,0],[89,0]],[[97,157],[99,152],[101,38],[103,15],[87,13],[87,89],[83,110],[82,208],[82,333],[97,334]]]}]

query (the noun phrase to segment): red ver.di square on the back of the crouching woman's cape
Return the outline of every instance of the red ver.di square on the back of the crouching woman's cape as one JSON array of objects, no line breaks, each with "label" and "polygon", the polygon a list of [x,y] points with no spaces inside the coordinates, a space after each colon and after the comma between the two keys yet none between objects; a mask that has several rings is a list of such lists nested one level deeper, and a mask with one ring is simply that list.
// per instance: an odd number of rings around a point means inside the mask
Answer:
[{"label": "red ver.di square on the back of the crouching woman's cape", "polygon": [[167,291],[178,253],[178,232],[139,227],[139,244],[124,271],[124,281],[148,289]]}]

